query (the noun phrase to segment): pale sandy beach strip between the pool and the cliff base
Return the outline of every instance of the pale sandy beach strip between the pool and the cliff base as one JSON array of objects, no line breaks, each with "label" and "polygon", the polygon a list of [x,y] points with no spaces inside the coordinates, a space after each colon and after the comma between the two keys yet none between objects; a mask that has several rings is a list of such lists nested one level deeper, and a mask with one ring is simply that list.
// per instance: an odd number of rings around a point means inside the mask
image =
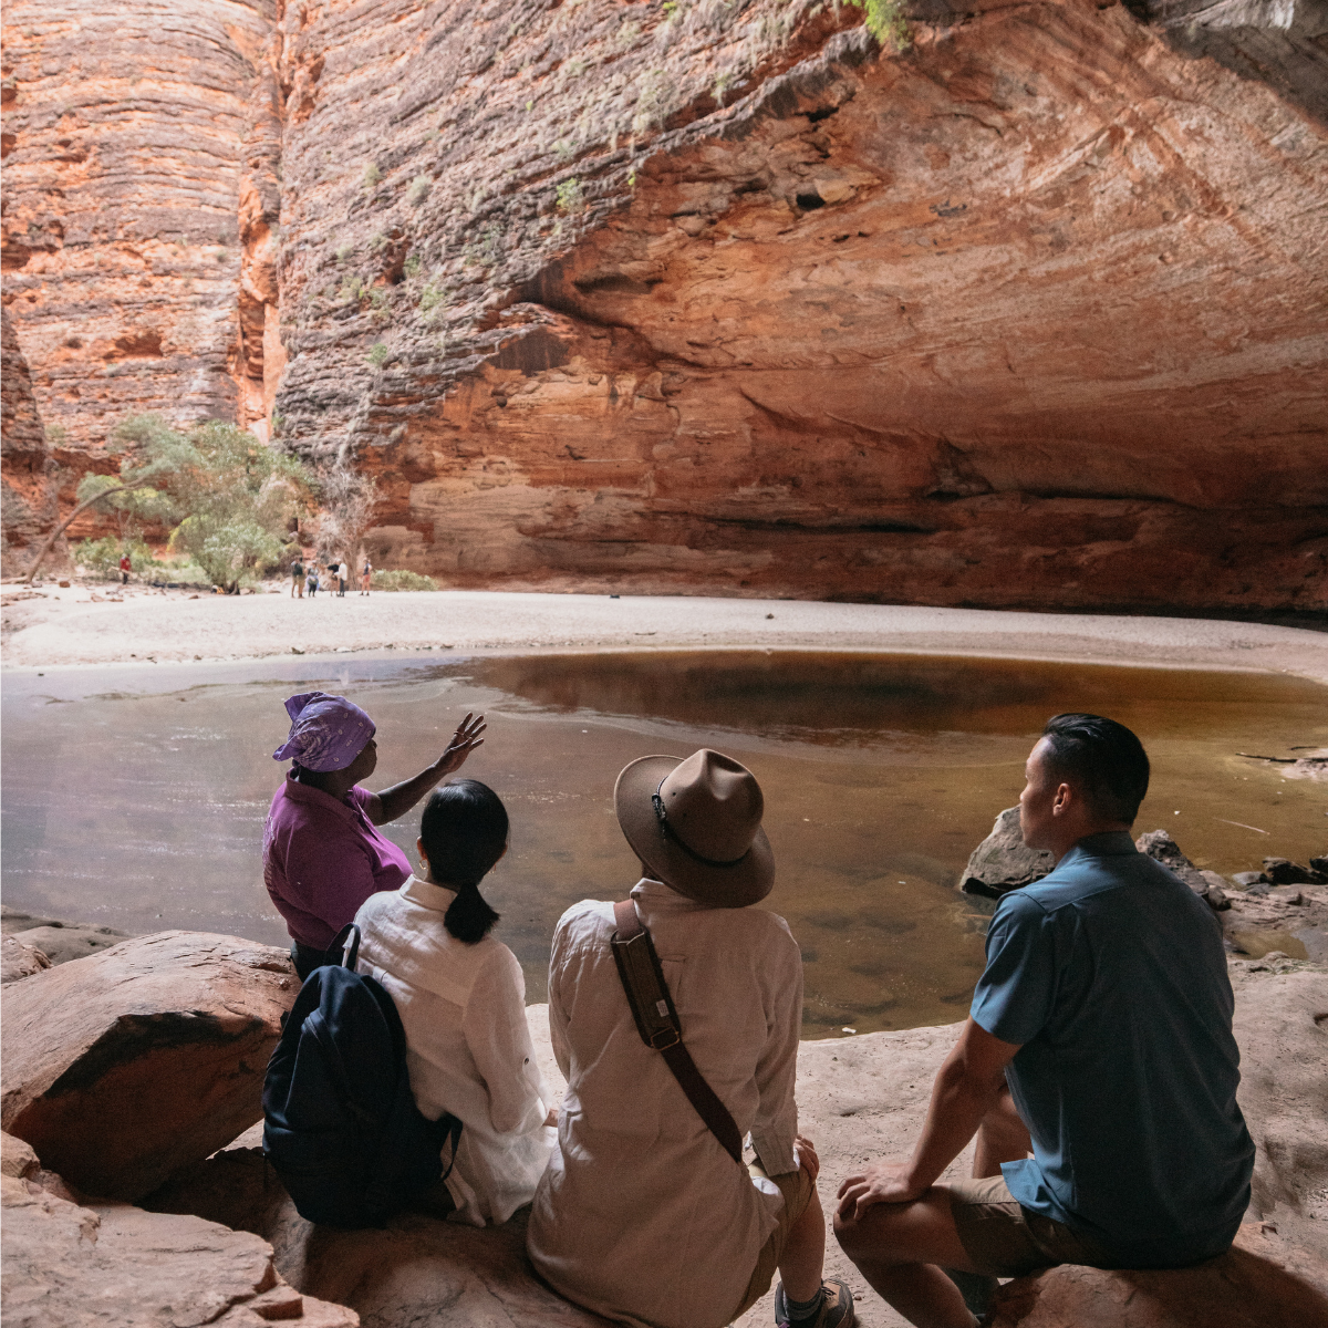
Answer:
[{"label": "pale sandy beach strip between the pool and the cliff base", "polygon": [[398,592],[292,600],[0,587],[5,668],[386,651],[770,647],[1252,669],[1328,683],[1328,633],[1210,619],[704,596]]}]

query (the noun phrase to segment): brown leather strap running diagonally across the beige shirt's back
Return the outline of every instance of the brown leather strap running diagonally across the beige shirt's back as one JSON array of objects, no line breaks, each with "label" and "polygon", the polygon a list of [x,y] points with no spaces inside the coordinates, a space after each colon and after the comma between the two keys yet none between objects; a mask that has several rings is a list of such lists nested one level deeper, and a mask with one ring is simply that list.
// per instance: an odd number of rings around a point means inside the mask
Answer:
[{"label": "brown leather strap running diagonally across the beige shirt's back", "polygon": [[614,904],[614,923],[618,928],[612,940],[614,963],[618,964],[618,976],[627,992],[627,1004],[632,1008],[641,1041],[664,1057],[664,1064],[696,1108],[696,1114],[720,1141],[724,1151],[742,1166],[742,1135],[737,1122],[714,1089],[705,1082],[692,1053],[683,1045],[683,1027],[664,980],[664,969],[649,931],[636,916],[633,900],[624,899]]}]

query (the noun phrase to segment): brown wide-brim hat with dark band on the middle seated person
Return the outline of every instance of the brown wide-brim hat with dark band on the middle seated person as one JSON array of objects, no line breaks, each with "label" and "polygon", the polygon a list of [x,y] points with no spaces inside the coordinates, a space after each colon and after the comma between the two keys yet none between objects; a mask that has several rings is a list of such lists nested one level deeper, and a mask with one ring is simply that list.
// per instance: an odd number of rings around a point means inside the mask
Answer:
[{"label": "brown wide-brim hat with dark band on the middle seated person", "polygon": [[774,886],[761,786],[732,757],[643,756],[618,777],[614,810],[641,862],[688,899],[745,908]]}]

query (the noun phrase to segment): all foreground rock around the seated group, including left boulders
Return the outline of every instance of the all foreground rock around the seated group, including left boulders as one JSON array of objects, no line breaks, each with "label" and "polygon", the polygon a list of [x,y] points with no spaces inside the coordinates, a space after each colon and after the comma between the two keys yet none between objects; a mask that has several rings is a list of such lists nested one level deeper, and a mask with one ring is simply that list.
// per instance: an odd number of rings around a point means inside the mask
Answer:
[{"label": "all foreground rock around the seated group, including left boulders", "polygon": [[[1244,960],[1232,983],[1240,1101],[1258,1145],[1236,1248],[1179,1274],[1019,1279],[1000,1295],[999,1328],[1287,1328],[1328,1313],[1328,971]],[[313,1228],[266,1169],[256,1129],[212,1151],[256,1118],[266,1052],[293,995],[280,951],[189,932],[130,939],[7,987],[5,1323],[599,1323],[531,1278],[519,1215],[483,1231],[422,1215],[378,1232]],[[546,1009],[527,1015],[556,1086]],[[821,1149],[826,1195],[862,1161],[907,1151],[957,1028],[802,1044],[802,1127]],[[41,1135],[57,1118],[60,1131]],[[134,1202],[89,1197],[108,1189]],[[827,1268],[855,1288],[866,1328],[899,1328],[833,1242]],[[741,1328],[769,1324],[769,1300]]]}]

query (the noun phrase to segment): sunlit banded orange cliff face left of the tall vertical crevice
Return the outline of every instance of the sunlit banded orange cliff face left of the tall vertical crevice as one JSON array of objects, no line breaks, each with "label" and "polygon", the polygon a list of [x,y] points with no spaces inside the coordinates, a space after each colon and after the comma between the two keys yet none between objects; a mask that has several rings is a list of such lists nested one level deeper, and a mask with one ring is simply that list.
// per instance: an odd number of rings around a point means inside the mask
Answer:
[{"label": "sunlit banded orange cliff face left of the tall vertical crevice", "polygon": [[271,23],[264,0],[7,9],[4,300],[66,511],[127,416],[264,414],[275,292],[242,230],[262,250],[278,206]]}]

